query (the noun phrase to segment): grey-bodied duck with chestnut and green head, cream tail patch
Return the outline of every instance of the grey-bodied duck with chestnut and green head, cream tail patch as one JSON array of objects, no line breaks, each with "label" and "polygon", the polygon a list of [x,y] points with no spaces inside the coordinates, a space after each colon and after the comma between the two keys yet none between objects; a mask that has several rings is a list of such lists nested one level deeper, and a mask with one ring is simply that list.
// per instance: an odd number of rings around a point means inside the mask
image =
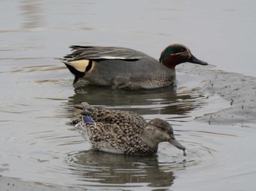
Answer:
[{"label": "grey-bodied duck with chestnut and green head, cream tail patch", "polygon": [[182,44],[171,44],[162,51],[159,61],[138,50],[125,47],[70,46],[72,53],[59,58],[86,84],[127,89],[154,89],[176,84],[175,67],[180,63],[208,65],[195,58]]}]

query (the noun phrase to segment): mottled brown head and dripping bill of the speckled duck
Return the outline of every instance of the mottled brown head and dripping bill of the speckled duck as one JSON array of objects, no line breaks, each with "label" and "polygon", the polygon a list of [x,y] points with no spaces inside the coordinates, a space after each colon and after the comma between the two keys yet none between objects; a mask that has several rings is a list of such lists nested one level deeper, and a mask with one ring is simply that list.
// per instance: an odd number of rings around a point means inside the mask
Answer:
[{"label": "mottled brown head and dripping bill of the speckled duck", "polygon": [[[147,123],[144,133],[146,133],[147,139],[151,143],[158,144],[167,141],[178,149],[183,150],[184,156],[186,155],[186,148],[175,139],[173,127],[169,122],[158,118],[151,120]],[[148,144],[150,144],[149,141]]]}]

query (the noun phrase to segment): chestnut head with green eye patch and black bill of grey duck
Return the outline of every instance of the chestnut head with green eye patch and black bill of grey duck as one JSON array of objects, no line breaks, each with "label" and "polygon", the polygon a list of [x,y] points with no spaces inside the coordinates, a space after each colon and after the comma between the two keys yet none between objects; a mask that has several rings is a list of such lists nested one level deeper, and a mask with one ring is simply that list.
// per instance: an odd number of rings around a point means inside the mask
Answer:
[{"label": "chestnut head with green eye patch and black bill of grey duck", "polygon": [[190,50],[182,44],[171,44],[162,51],[159,62],[169,69],[175,70],[175,66],[180,63],[197,63],[200,65],[208,65],[205,61],[195,58]]}]

